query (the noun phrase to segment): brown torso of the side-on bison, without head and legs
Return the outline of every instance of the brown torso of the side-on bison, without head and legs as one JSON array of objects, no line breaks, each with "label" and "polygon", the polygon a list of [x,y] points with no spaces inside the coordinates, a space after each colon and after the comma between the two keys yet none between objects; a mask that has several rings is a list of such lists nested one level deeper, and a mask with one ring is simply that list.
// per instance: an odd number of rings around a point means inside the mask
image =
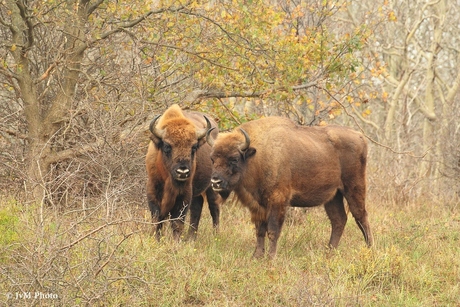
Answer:
[{"label": "brown torso of the side-on bison, without head and legs", "polygon": [[[365,176],[363,136],[339,126],[303,127],[271,117],[241,125],[256,149],[242,182],[257,201],[277,195],[292,206],[317,206]],[[283,192],[284,191],[284,192]]]}]

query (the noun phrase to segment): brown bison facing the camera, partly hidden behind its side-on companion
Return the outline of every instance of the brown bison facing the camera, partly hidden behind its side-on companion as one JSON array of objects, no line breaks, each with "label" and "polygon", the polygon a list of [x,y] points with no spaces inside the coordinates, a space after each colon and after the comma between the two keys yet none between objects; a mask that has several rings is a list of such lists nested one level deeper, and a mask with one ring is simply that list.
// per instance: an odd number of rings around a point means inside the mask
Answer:
[{"label": "brown bison facing the camera, partly hidden behind its side-on companion", "polygon": [[168,216],[174,237],[179,239],[189,207],[189,236],[194,237],[204,194],[213,226],[217,228],[220,208],[218,195],[210,187],[211,147],[205,138],[206,132],[216,128],[217,124],[201,113],[183,112],[178,105],[171,106],[159,117],[150,123],[152,135],[145,158],[147,200],[152,219],[157,225],[157,239],[161,236],[162,222]]}]

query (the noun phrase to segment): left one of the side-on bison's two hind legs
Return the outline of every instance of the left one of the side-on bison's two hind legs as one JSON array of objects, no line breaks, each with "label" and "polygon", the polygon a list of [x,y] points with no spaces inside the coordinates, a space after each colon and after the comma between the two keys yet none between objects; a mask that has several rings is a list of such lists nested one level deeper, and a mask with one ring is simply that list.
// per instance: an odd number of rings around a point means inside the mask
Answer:
[{"label": "left one of the side-on bison's two hind legs", "polygon": [[337,191],[334,198],[328,201],[324,205],[324,208],[326,209],[327,216],[329,217],[332,226],[329,246],[337,248],[347,223],[347,213],[345,212],[345,207],[343,205],[342,193]]}]

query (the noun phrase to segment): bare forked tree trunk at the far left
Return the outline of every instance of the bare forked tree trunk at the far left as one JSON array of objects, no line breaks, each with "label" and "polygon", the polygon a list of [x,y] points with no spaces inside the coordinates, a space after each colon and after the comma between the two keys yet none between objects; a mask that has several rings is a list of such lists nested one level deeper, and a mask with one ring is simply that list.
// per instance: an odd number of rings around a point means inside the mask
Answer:
[{"label": "bare forked tree trunk at the far left", "polygon": [[67,2],[68,11],[73,12],[71,16],[75,17],[68,20],[64,31],[67,53],[64,54],[61,64],[62,85],[45,112],[44,102],[37,94],[37,84],[43,80],[33,77],[27,57],[27,52],[33,46],[33,21],[22,1],[8,2],[13,14],[10,27],[15,42],[13,56],[16,63],[21,66],[15,77],[18,80],[18,91],[24,102],[28,130],[25,185],[27,198],[33,202],[44,201],[51,165],[59,161],[60,153],[54,150],[53,143],[68,118],[67,112],[74,98],[80,64],[87,47],[84,35],[87,3],[86,0],[79,1],[79,5],[75,5],[72,1]]}]

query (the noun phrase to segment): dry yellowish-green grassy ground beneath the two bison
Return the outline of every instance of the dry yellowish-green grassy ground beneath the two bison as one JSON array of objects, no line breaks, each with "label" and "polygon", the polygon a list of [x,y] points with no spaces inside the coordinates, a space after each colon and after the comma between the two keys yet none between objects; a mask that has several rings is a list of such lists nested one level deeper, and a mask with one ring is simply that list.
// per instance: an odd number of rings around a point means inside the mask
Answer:
[{"label": "dry yellowish-green grassy ground beneath the two bison", "polygon": [[[350,217],[336,251],[322,208],[291,210],[275,260],[253,260],[249,214],[207,210],[195,242],[161,242],[148,213],[0,201],[0,302],[10,306],[459,306],[456,204],[370,203],[375,246]],[[169,227],[168,227],[169,229]]]}]

